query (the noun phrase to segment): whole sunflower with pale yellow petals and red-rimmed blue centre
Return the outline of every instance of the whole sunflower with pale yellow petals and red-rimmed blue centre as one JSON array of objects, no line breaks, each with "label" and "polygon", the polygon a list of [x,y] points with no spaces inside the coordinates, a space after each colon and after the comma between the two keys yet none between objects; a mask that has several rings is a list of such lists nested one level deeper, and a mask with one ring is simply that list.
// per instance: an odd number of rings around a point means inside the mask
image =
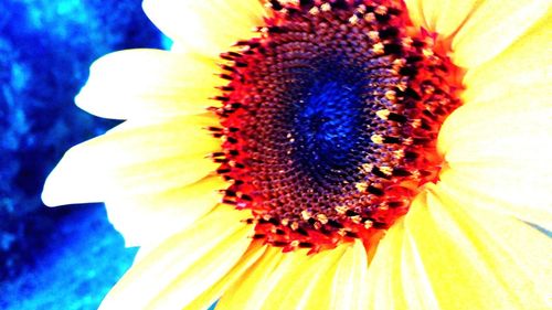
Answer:
[{"label": "whole sunflower with pale yellow petals and red-rimmed blue centre", "polygon": [[552,307],[550,1],[144,8],[43,193],[140,246],[102,309]]}]

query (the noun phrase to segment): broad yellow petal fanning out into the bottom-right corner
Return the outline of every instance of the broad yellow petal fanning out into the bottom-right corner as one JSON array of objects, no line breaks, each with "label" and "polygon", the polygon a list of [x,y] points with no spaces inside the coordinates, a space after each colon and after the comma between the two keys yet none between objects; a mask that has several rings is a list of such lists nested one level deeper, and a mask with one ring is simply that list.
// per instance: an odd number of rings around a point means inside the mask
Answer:
[{"label": "broad yellow petal fanning out into the bottom-right corner", "polygon": [[414,201],[405,227],[439,309],[546,309],[552,240],[428,188]]}]

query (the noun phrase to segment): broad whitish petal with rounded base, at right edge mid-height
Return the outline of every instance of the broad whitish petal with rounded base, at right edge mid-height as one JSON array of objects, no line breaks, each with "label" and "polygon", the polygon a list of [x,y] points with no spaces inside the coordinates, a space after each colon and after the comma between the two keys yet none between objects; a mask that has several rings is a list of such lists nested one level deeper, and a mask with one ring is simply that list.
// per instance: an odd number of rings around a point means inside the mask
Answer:
[{"label": "broad whitish petal with rounded base, at right edge mid-height", "polygon": [[550,107],[516,107],[508,99],[460,107],[439,133],[447,161],[440,180],[458,195],[469,192],[464,200],[474,205],[551,227],[550,132]]}]

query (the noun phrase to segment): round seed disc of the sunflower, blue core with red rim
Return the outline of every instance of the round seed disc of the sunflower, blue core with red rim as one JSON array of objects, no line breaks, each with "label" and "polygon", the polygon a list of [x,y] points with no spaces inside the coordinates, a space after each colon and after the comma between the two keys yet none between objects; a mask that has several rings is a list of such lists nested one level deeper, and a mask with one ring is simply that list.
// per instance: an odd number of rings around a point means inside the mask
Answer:
[{"label": "round seed disc of the sunflower, blue core with red rim", "polygon": [[224,202],[285,250],[370,245],[437,178],[455,67],[402,1],[288,2],[221,55]]}]

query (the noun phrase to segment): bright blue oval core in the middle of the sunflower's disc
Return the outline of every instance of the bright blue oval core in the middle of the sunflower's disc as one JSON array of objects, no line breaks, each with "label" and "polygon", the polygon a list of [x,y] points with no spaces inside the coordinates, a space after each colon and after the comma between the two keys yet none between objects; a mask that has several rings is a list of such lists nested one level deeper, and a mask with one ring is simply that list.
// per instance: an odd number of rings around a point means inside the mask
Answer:
[{"label": "bright blue oval core in the middle of the sunflower's disc", "polygon": [[[358,84],[338,77],[316,78],[297,104],[295,158],[317,179],[352,164],[362,128]],[[320,181],[320,180],[319,180]]]}]

